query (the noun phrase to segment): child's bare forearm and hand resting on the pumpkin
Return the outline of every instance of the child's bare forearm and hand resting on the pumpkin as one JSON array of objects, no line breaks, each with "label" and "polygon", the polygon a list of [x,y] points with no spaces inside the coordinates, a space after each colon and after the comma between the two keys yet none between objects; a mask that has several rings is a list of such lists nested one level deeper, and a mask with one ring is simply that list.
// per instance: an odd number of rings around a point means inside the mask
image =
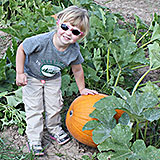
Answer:
[{"label": "child's bare forearm and hand resting on the pumpkin", "polygon": [[97,91],[85,88],[84,72],[81,64],[72,65],[72,72],[74,74],[79,92],[81,95],[98,94]]}]

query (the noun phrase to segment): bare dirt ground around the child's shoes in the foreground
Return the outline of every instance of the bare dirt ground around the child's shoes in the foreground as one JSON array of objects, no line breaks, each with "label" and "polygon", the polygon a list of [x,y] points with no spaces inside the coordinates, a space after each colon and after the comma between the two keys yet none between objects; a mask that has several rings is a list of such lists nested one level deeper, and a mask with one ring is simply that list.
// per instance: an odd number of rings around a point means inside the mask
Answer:
[{"label": "bare dirt ground around the child's shoes in the foreground", "polygon": [[[13,142],[13,147],[19,150],[23,148],[24,153],[28,152],[26,146],[27,137],[26,135],[22,136],[18,134],[16,126],[6,127],[3,132],[0,132],[0,137]],[[58,145],[49,138],[46,130],[43,133],[42,144],[45,147],[45,156],[38,157],[38,160],[80,160],[83,155],[91,157],[97,151],[97,149],[86,146],[74,138],[64,145]]]}]

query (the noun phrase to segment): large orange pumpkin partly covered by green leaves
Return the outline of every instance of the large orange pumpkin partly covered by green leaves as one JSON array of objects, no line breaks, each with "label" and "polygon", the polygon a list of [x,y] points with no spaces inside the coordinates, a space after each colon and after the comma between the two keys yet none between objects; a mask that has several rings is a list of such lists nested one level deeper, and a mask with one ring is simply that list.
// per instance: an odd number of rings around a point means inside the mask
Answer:
[{"label": "large orange pumpkin partly covered by green leaves", "polygon": [[[72,102],[66,115],[66,126],[71,135],[79,142],[91,147],[97,146],[92,140],[93,130],[82,131],[82,128],[88,121],[96,120],[91,118],[89,114],[95,110],[94,104],[106,96],[104,94],[83,95]],[[116,110],[116,112],[118,111]]]}]

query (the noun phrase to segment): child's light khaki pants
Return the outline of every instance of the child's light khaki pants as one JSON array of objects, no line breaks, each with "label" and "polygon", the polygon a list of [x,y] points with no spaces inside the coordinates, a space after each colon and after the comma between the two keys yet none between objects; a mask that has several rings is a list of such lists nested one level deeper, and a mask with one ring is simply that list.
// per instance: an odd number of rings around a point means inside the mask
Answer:
[{"label": "child's light khaki pants", "polygon": [[60,110],[63,100],[61,95],[61,77],[46,81],[27,75],[28,83],[23,87],[23,102],[26,112],[26,134],[30,141],[41,141],[43,131],[43,112],[45,125],[49,132],[54,133],[61,123]]}]

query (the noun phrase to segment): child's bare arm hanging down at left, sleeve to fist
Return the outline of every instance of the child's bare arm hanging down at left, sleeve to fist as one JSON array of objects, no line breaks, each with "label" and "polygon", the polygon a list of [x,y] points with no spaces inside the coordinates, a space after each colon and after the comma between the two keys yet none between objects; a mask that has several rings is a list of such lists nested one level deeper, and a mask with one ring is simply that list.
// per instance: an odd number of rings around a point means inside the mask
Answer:
[{"label": "child's bare arm hanging down at left, sleeve to fist", "polygon": [[27,77],[24,74],[25,58],[26,55],[24,53],[23,44],[21,43],[16,54],[16,84],[18,86],[25,86],[27,84]]}]

